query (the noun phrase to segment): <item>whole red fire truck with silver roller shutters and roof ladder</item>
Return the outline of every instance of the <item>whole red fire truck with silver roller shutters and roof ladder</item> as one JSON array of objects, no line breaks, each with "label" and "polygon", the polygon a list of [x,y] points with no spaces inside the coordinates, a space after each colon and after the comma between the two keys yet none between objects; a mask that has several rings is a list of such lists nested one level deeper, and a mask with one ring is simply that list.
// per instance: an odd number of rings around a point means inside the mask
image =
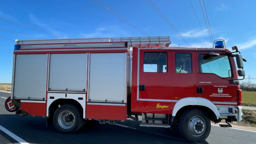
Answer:
[{"label": "whole red fire truck with silver roller shutters and roof ladder", "polygon": [[200,142],[210,121],[242,120],[246,60],[224,40],[213,48],[168,47],[169,36],[16,43],[6,109],[46,117],[59,132],[74,133],[86,120],[115,124],[141,116],[140,126],[176,123],[184,138]]}]

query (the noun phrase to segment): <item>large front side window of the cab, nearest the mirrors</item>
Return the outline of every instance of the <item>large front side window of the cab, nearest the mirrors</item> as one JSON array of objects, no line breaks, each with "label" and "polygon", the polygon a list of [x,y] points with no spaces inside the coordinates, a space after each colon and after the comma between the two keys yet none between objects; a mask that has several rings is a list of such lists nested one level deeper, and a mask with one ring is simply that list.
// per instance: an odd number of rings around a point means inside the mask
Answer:
[{"label": "large front side window of the cab, nearest the mirrors", "polygon": [[208,56],[199,55],[200,73],[212,73],[222,78],[231,78],[230,61],[227,55]]}]

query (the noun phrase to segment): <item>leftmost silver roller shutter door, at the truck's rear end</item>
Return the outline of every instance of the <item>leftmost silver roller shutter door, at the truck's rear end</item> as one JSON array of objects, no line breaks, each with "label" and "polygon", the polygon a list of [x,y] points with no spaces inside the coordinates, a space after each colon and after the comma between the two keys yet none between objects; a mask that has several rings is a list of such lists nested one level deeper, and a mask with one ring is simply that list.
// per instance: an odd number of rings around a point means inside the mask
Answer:
[{"label": "leftmost silver roller shutter door, at the truck's rear end", "polygon": [[14,98],[43,100],[46,96],[46,54],[17,54]]}]

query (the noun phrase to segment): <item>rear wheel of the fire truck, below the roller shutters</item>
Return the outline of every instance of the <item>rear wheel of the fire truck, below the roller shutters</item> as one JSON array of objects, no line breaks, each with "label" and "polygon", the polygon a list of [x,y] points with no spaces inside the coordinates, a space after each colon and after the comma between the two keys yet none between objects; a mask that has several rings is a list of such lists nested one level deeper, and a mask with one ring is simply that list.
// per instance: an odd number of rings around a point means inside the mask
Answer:
[{"label": "rear wheel of the fire truck, below the roller shutters", "polygon": [[53,123],[61,133],[74,133],[82,127],[83,119],[76,106],[65,104],[54,112]]}]

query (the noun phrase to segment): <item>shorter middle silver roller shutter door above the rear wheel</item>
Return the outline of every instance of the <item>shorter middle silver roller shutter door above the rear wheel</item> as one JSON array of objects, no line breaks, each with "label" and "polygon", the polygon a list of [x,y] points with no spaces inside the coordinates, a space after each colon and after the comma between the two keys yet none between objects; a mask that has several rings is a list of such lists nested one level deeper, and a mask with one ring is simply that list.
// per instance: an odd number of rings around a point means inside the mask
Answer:
[{"label": "shorter middle silver roller shutter door above the rear wheel", "polygon": [[51,54],[49,90],[86,89],[87,54]]}]

